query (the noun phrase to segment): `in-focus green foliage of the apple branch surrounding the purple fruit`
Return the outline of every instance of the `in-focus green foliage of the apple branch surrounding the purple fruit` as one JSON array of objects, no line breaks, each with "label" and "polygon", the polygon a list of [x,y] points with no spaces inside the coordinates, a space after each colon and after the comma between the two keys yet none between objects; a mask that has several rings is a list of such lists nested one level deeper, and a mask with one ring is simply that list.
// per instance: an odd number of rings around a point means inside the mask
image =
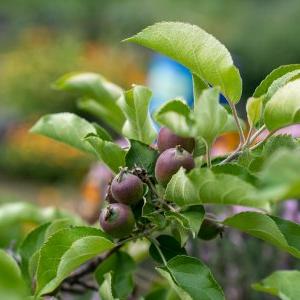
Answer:
[{"label": "in-focus green foliage of the apple branch surrounding the purple fruit", "polygon": [[[300,66],[279,67],[257,87],[247,102],[250,129],[245,135],[235,107],[242,92],[241,77],[230,53],[213,36],[189,24],[163,22],[127,41],[168,55],[193,73],[193,109],[181,99],[172,99],[154,117],[173,134],[193,138],[195,149],[189,153],[176,145],[159,155],[153,146],[157,134],[148,113],[148,88],[136,85],[122,91],[91,73],[60,79],[57,86],[80,94],[89,111],[106,121],[117,120],[110,126],[128,139],[129,147],[118,146],[102,127],[70,113],[44,116],[31,131],[95,155],[114,174],[120,167],[126,168],[144,188],[139,202],[127,202],[131,207],[117,203],[102,210],[100,219],[106,233],[63,223],[45,234],[45,228],[53,228],[51,222],[31,232],[19,254],[24,279],[29,286],[35,282],[35,297],[98,290],[86,278],[94,274],[102,299],[137,298],[141,290],[132,274],[141,257],[141,240],[150,245],[150,256],[158,262],[156,270],[164,278],[158,288],[148,285],[149,289],[142,291],[145,299],[225,299],[209,268],[186,250],[190,237],[203,236],[205,229],[207,235],[214,223],[220,232],[224,227],[235,228],[299,258],[300,225],[272,215],[272,208],[300,196],[299,141],[289,135],[274,135],[278,129],[300,122]],[[220,93],[231,111],[219,104]],[[265,129],[268,135],[257,142]],[[240,135],[238,148],[228,156],[212,159],[216,138],[233,130]],[[188,165],[176,162],[160,184],[160,160],[169,164],[176,156],[184,156]],[[257,211],[220,220],[206,213],[206,204],[241,205]],[[124,218],[118,219],[114,211],[120,205],[126,207],[126,228],[120,225],[119,231],[115,227],[111,231],[103,220],[124,224]],[[128,217],[130,211],[135,224]],[[140,248],[132,251],[135,245]],[[7,254],[1,255],[11,262]],[[17,266],[10,269],[15,274]],[[24,285],[21,278],[18,280]],[[299,271],[278,271],[253,287],[281,299],[299,299]],[[23,297],[23,286],[19,290]]]}]

